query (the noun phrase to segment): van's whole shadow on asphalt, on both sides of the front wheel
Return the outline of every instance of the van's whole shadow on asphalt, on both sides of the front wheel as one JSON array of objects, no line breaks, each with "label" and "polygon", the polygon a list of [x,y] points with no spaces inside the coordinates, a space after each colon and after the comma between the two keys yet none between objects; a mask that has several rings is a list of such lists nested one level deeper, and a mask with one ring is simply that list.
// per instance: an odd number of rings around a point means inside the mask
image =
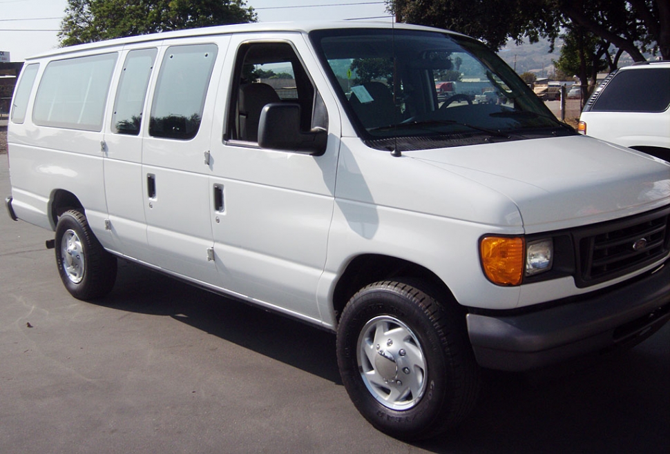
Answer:
[{"label": "van's whole shadow on asphalt, on both sides of the front wheel", "polygon": [[[173,317],[341,384],[332,333],[125,261],[97,304]],[[435,453],[668,453],[670,326],[647,343],[540,373],[485,372],[472,417],[412,445]]]}]

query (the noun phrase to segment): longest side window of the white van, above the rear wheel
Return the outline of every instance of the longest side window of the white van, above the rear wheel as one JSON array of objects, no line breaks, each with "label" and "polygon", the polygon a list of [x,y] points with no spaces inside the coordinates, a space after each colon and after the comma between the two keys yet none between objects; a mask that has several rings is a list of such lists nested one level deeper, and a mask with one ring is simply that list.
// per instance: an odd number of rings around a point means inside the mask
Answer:
[{"label": "longest side window of the white van, above the rear wheel", "polygon": [[117,53],[52,61],[44,70],[32,119],[39,126],[102,130]]}]

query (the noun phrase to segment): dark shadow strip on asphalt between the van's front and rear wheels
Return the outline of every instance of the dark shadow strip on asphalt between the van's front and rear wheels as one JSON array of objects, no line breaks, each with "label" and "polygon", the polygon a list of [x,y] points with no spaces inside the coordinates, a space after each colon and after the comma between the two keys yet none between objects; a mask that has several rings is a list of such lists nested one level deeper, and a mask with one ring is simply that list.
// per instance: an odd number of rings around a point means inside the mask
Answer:
[{"label": "dark shadow strip on asphalt between the van's front and rear wheels", "polygon": [[112,293],[96,302],[128,312],[172,317],[336,384],[335,335],[257,306],[222,297],[119,260]]}]

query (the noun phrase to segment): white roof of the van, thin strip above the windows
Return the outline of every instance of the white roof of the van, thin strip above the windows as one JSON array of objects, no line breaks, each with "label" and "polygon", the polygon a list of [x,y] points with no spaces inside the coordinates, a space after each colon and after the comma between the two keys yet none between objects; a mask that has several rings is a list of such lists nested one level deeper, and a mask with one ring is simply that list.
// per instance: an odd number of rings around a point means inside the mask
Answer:
[{"label": "white roof of the van, thin strip above the windows", "polygon": [[[35,55],[26,59],[26,61],[41,59],[44,57],[53,57],[57,55],[66,55],[72,52],[82,50],[95,50],[123,46],[124,44],[162,41],[164,39],[176,39],[184,37],[205,37],[216,34],[247,33],[247,32],[298,32],[309,33],[313,30],[328,30],[333,28],[392,28],[401,30],[424,30],[448,32],[439,28],[414,26],[406,23],[392,23],[382,21],[294,21],[294,22],[256,22],[256,23],[238,23],[227,26],[213,26],[204,28],[190,28],[188,30],[175,30],[171,32],[158,32],[152,34],[141,34],[133,37],[109,39],[106,41],[97,41],[95,43],[78,44],[65,48],[57,48]],[[451,34],[459,34],[449,32]]]}]

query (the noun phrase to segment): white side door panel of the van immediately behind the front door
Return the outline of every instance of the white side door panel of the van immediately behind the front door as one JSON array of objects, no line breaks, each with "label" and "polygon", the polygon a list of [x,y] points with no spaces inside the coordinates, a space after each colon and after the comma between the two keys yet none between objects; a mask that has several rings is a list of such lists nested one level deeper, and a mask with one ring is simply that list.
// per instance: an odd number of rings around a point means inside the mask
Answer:
[{"label": "white side door panel of the van immediately behind the front door", "polygon": [[[157,61],[169,61],[186,46],[216,45],[216,61],[207,82],[207,97],[200,126],[194,137],[175,139],[152,137],[144,128],[142,142],[142,199],[146,217],[147,241],[152,264],[178,275],[204,283],[218,280],[217,270],[208,250],[212,247],[210,225],[210,190],[208,164],[204,153],[209,151],[218,75],[221,72],[229,37],[204,37],[165,41]],[[178,58],[178,57],[175,57]],[[213,58],[205,55],[202,58]],[[160,77],[162,68],[155,71]],[[188,84],[188,73],[182,75]],[[149,99],[155,108],[157,82],[151,84]],[[174,93],[179,99],[180,93]],[[181,126],[174,126],[175,128]],[[153,185],[153,188],[151,187]]]}]

